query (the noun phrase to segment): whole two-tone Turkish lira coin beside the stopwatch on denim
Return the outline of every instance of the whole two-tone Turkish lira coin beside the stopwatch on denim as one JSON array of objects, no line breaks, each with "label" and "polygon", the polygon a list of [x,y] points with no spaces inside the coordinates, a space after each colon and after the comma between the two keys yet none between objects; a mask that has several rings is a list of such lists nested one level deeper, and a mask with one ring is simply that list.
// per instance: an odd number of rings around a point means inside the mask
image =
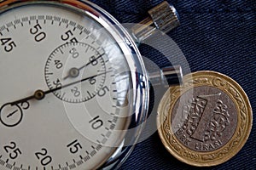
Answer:
[{"label": "whole two-tone Turkish lira coin beside the stopwatch on denim", "polygon": [[169,88],[158,107],[158,133],[179,161],[209,167],[230,160],[246,143],[253,124],[247,94],[230,77],[198,71]]}]

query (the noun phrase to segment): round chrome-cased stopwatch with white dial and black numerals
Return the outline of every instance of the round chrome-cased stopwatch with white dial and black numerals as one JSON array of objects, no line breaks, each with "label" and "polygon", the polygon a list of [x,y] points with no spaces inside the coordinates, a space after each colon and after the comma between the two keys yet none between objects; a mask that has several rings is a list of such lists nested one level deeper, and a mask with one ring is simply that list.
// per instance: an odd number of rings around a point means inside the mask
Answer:
[{"label": "round chrome-cased stopwatch with white dial and black numerals", "polygon": [[146,28],[87,1],[2,1],[0,169],[119,167],[148,112]]}]

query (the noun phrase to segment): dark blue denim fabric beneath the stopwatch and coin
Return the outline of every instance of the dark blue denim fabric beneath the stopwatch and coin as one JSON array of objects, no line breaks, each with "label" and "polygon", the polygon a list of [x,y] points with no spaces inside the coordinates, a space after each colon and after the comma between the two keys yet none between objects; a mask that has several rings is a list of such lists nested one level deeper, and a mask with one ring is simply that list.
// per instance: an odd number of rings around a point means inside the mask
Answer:
[{"label": "dark blue denim fabric beneath the stopwatch and coin", "polygon": [[[147,16],[161,0],[93,0],[121,23],[134,23]],[[238,82],[256,113],[256,1],[255,0],[170,0],[181,26],[168,35],[177,42],[191,71],[221,72]],[[167,47],[164,47],[167,48]],[[165,65],[153,49],[141,46],[144,56]],[[181,63],[181,65],[183,65]],[[253,114],[255,116],[255,114]],[[242,150],[230,161],[203,169],[256,169],[256,121]],[[154,133],[137,144],[120,169],[194,169],[177,161]]]}]

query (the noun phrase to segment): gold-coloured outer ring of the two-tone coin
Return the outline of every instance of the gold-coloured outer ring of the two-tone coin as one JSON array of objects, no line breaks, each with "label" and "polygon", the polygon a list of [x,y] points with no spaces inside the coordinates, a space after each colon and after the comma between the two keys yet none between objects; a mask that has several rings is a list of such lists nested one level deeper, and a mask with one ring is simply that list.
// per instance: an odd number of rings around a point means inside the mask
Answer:
[{"label": "gold-coloured outer ring of the two-tone coin", "polygon": [[[183,145],[172,132],[172,109],[185,92],[191,88],[210,86],[218,88],[230,96],[236,105],[236,131],[227,144],[218,150],[200,152],[190,150]],[[196,167],[210,167],[230,160],[246,143],[253,125],[253,111],[247,94],[241,86],[230,77],[215,71],[197,71],[183,77],[183,87],[169,88],[160,101],[157,115],[158,133],[162,143],[172,156]]]}]

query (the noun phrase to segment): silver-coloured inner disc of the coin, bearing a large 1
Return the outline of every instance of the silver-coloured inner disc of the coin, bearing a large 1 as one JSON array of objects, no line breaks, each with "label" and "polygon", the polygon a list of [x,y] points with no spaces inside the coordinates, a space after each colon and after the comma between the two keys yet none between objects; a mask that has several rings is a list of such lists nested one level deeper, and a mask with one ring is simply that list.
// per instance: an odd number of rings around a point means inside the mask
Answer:
[{"label": "silver-coloured inner disc of the coin, bearing a large 1", "polygon": [[213,151],[227,144],[237,127],[236,105],[218,88],[186,91],[173,106],[172,132],[190,150]]}]

